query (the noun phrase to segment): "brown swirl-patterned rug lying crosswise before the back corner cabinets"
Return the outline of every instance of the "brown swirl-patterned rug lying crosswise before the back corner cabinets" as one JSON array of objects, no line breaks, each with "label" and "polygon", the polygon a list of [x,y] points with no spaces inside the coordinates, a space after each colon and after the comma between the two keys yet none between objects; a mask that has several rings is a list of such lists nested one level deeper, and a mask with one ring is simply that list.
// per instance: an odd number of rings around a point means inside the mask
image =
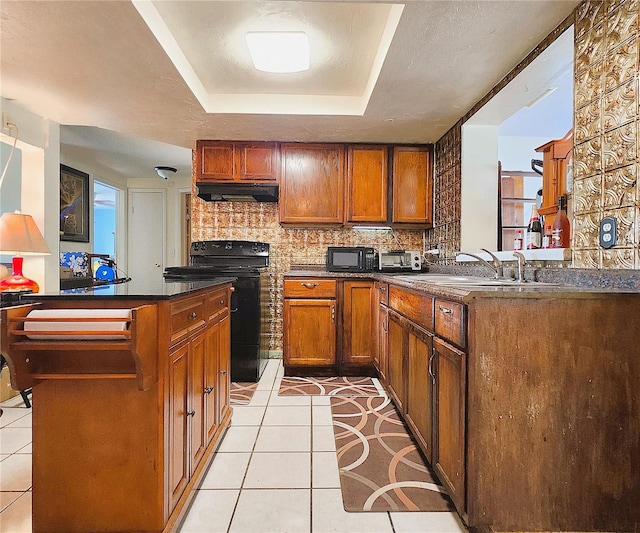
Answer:
[{"label": "brown swirl-patterned rug lying crosswise before the back corner cabinets", "polygon": [[377,396],[380,392],[371,378],[332,377],[300,378],[283,377],[279,396]]}]

